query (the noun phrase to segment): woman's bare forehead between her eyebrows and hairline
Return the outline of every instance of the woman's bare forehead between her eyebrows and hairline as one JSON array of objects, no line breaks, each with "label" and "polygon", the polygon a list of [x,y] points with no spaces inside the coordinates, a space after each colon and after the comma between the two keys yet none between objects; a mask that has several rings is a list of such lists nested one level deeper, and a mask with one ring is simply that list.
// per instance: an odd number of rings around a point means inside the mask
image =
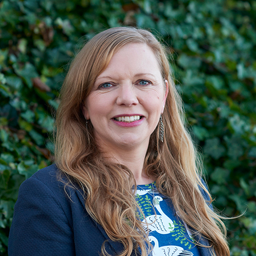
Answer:
[{"label": "woman's bare forehead between her eyebrows and hairline", "polygon": [[115,52],[106,69],[98,76],[134,75],[152,73],[161,77],[159,62],[153,50],[146,44],[127,44]]}]

